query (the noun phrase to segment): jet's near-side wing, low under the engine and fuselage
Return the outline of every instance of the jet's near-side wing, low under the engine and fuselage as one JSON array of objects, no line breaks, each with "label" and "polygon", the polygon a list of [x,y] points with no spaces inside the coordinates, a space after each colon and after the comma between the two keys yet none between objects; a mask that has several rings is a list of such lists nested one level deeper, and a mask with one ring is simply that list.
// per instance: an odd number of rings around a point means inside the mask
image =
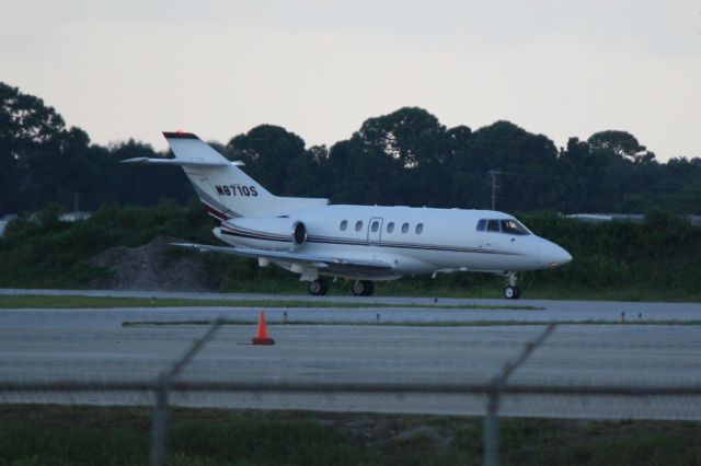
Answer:
[{"label": "jet's near-side wing, low under the engine and fuselage", "polygon": [[300,254],[290,251],[267,251],[267,249],[252,249],[243,247],[230,247],[230,246],[210,246],[206,244],[193,244],[193,243],[171,243],[173,246],[188,247],[197,251],[205,251],[211,253],[233,254],[243,257],[263,258],[273,261],[302,264],[309,267],[333,271],[336,273],[343,272],[364,272],[364,273],[388,273],[392,272],[393,267],[391,264],[382,260],[368,260],[368,259],[350,259],[344,257],[332,256],[319,256],[315,254]]}]

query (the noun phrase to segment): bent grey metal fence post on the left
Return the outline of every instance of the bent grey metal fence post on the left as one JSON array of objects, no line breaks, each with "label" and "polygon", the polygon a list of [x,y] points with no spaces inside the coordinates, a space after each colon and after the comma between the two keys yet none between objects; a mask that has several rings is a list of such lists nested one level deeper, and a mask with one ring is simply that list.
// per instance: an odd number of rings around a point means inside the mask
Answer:
[{"label": "bent grey metal fence post on the left", "polygon": [[156,389],[156,408],[153,409],[153,424],[151,426],[151,464],[162,466],[165,458],[165,436],[168,435],[168,392],[173,378],[180,374],[183,368],[195,357],[197,351],[214,337],[223,324],[223,317],[219,317],[209,327],[207,333],[180,358],[170,371],[159,378],[159,387]]}]

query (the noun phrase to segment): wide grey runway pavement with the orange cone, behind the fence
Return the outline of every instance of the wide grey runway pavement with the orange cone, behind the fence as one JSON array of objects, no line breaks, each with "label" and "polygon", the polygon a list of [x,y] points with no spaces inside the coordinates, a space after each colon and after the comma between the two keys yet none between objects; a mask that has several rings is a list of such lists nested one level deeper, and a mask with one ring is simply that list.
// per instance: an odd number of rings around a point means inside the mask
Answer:
[{"label": "wide grey runway pavement with the orange cone, behind the fence", "polygon": [[[370,300],[378,302],[376,298]],[[402,321],[505,323],[509,319],[556,319],[561,322],[559,327],[516,371],[512,383],[663,387],[701,384],[701,326],[565,323],[567,318],[572,322],[616,321],[620,318],[618,310],[624,307],[627,314],[634,315],[635,319],[637,313],[642,313],[644,322],[659,318],[683,324],[683,321],[701,319],[701,306],[698,304],[528,303],[542,308],[446,310],[434,308],[426,303],[425,308],[334,308],[330,305],[322,308],[266,310],[268,321],[273,323],[268,330],[276,340],[274,347],[248,345],[254,325],[225,326],[186,366],[180,378],[341,384],[485,383],[506,363],[514,361],[544,325],[439,327],[381,324]],[[199,321],[218,315],[252,319],[260,311],[257,307],[2,310],[0,382],[153,380],[168,370],[207,327],[123,326],[125,321]],[[277,324],[285,312],[288,313],[288,324]],[[376,324],[378,313],[380,325]],[[335,321],[336,324],[290,325],[294,319]],[[149,394],[125,393],[0,393],[0,400],[2,398],[5,401],[152,403]],[[172,400],[189,406],[449,415],[482,415],[485,409],[483,396],[463,395],[185,394],[172,397]],[[505,398],[502,412],[506,416],[698,420],[701,419],[701,403],[698,398],[685,397],[518,396]]]}]

